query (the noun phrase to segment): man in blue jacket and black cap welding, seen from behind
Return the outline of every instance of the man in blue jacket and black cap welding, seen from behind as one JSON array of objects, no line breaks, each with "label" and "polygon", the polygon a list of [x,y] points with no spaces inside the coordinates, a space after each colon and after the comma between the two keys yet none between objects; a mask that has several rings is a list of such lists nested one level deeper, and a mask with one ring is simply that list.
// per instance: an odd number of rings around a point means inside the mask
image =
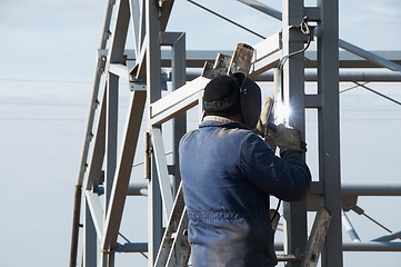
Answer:
[{"label": "man in blue jacket and black cap welding, seen from behind", "polygon": [[[268,103],[270,105],[270,103]],[[271,146],[259,86],[243,73],[219,76],[204,88],[204,116],[180,141],[180,171],[194,267],[275,266],[270,195],[305,197],[311,174],[301,132],[279,125]]]}]

